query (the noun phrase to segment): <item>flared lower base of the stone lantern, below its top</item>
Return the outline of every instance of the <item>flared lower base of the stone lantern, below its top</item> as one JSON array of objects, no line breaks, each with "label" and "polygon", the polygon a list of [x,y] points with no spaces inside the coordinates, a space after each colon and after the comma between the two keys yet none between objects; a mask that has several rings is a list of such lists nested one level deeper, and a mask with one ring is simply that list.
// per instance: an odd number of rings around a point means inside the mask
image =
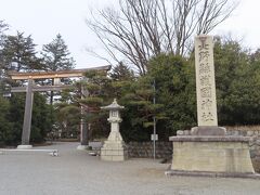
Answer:
[{"label": "flared lower base of the stone lantern, below its top", "polygon": [[119,130],[115,129],[118,123],[112,125],[114,125],[114,128],[110,131],[107,141],[105,141],[101,148],[101,159],[108,161],[123,161],[128,158],[127,146],[122,141]]}]

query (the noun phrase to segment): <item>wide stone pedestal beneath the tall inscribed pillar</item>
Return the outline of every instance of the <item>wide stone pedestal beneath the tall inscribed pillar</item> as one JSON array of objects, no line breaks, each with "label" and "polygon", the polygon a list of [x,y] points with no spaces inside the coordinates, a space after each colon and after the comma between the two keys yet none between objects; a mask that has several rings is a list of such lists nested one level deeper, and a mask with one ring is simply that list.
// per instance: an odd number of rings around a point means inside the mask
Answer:
[{"label": "wide stone pedestal beneath the tall inscribed pillar", "polygon": [[[180,133],[181,134],[181,133]],[[167,174],[247,177],[253,176],[247,136],[171,136],[173,155]]]}]

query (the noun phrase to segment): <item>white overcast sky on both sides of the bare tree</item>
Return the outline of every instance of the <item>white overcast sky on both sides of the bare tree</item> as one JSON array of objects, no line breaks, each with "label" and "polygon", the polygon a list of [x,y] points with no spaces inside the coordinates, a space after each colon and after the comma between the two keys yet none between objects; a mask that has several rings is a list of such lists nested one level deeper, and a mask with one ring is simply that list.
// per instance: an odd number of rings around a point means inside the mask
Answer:
[{"label": "white overcast sky on both sides of the bare tree", "polygon": [[[60,32],[76,60],[77,68],[106,65],[84,51],[92,48],[104,53],[98,39],[88,29],[84,20],[90,8],[102,9],[117,0],[0,0],[0,20],[16,30],[31,35],[38,49],[52,41]],[[245,47],[260,48],[260,1],[240,0],[233,15],[218,26],[212,35],[227,35],[240,40]]]}]

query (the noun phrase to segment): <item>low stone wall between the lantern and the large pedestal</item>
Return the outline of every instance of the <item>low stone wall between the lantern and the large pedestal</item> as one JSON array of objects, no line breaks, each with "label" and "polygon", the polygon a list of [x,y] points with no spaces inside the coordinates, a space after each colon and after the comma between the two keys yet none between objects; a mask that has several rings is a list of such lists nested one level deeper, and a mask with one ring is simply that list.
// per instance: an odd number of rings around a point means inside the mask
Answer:
[{"label": "low stone wall between the lantern and the large pedestal", "polygon": [[[153,158],[153,142],[130,142],[128,143],[129,157]],[[169,159],[172,156],[172,142],[156,142],[156,158]]]}]

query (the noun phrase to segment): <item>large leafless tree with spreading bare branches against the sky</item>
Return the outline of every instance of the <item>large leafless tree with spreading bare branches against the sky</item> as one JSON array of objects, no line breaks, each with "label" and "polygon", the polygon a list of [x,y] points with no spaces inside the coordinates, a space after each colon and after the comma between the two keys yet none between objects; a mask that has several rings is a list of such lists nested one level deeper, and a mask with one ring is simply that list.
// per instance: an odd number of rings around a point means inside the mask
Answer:
[{"label": "large leafless tree with spreading bare branches against the sky", "polygon": [[144,75],[152,56],[184,56],[195,34],[211,31],[236,5],[231,0],[119,0],[119,10],[92,12],[87,25],[113,60],[119,63],[123,57]]}]

